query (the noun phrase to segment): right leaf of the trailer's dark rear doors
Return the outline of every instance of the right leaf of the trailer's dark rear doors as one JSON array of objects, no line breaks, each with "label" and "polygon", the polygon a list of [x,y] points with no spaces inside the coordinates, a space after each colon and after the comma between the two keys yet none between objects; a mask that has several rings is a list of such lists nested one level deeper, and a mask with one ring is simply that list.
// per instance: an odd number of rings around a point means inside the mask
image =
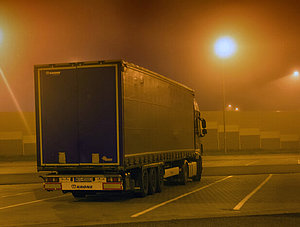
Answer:
[{"label": "right leaf of the trailer's dark rear doors", "polygon": [[[119,163],[116,67],[78,68],[80,163]],[[94,158],[93,158],[94,157]]]}]

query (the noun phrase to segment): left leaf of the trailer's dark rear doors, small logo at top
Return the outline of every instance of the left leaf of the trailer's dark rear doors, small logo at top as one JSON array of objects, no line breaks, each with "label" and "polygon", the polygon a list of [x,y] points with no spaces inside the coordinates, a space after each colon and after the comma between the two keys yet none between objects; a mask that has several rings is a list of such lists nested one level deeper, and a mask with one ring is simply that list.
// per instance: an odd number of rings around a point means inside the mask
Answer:
[{"label": "left leaf of the trailer's dark rear doors, small logo at top", "polygon": [[76,69],[45,69],[38,82],[41,163],[79,163]]}]

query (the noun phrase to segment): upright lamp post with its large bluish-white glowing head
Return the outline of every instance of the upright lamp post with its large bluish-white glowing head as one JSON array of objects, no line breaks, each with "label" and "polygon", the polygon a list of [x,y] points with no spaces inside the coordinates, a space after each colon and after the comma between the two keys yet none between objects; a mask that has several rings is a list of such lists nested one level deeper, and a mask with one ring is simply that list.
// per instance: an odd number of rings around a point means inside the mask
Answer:
[{"label": "upright lamp post with its large bluish-white glowing head", "polygon": [[215,54],[222,59],[222,96],[223,96],[223,124],[224,124],[224,153],[227,154],[226,146],[226,93],[225,93],[225,78],[224,78],[224,60],[231,57],[236,52],[236,44],[234,39],[229,36],[220,37],[214,45]]}]

